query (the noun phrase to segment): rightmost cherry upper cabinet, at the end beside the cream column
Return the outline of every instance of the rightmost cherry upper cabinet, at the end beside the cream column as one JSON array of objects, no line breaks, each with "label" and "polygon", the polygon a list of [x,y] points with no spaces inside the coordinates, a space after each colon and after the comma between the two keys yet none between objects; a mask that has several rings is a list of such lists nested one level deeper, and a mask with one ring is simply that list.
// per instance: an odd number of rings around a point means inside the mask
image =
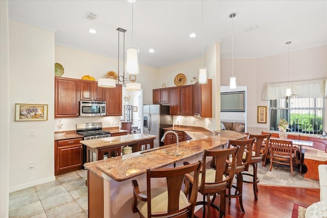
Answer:
[{"label": "rightmost cherry upper cabinet, at the end beside the cream column", "polygon": [[206,84],[193,85],[193,115],[200,117],[213,116],[213,80],[208,79]]}]

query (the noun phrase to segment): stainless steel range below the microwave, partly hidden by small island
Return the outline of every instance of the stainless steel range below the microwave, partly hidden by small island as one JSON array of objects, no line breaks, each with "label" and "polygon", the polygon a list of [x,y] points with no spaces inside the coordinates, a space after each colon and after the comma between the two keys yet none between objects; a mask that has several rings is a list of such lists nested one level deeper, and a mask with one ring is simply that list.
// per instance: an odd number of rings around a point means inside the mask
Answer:
[{"label": "stainless steel range below the microwave, partly hidden by small island", "polygon": [[[76,133],[83,136],[83,140],[111,137],[111,133],[102,130],[102,123],[76,124]],[[86,163],[86,146],[83,145],[83,165]]]}]

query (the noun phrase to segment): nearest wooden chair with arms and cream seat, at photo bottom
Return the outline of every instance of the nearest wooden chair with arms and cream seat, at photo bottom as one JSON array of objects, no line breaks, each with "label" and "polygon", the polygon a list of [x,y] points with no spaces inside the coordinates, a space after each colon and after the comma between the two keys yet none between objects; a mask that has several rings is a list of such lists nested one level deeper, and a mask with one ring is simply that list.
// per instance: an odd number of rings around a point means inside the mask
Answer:
[{"label": "nearest wooden chair with arms and cream seat, at photo bottom", "polygon": [[[136,180],[132,180],[132,211],[140,217],[194,217],[198,179],[202,161],[175,168],[147,169],[147,190],[140,191]],[[181,190],[186,174],[194,175],[195,184],[190,199]],[[164,187],[151,187],[153,178],[166,178]],[[154,179],[155,180],[155,179]],[[152,181],[154,182],[154,181]],[[186,189],[185,189],[186,190]]]}]

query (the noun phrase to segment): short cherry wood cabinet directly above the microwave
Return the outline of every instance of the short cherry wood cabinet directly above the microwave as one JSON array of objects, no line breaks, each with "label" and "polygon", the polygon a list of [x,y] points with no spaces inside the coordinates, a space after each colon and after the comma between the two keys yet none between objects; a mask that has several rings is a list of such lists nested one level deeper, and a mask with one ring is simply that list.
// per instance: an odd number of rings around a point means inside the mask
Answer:
[{"label": "short cherry wood cabinet directly above the microwave", "polygon": [[105,88],[98,87],[98,82],[81,80],[81,100],[83,101],[105,101]]}]

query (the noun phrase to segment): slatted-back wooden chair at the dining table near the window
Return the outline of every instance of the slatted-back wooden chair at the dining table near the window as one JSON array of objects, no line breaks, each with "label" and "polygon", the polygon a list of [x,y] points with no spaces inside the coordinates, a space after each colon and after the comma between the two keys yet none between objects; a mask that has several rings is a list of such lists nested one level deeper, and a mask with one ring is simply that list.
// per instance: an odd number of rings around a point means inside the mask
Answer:
[{"label": "slatted-back wooden chair at the dining table near the window", "polygon": [[297,148],[293,147],[292,141],[270,139],[269,152],[270,152],[270,167],[272,169],[273,163],[289,165],[291,167],[291,175],[294,176],[293,167],[295,165],[294,154]]}]

